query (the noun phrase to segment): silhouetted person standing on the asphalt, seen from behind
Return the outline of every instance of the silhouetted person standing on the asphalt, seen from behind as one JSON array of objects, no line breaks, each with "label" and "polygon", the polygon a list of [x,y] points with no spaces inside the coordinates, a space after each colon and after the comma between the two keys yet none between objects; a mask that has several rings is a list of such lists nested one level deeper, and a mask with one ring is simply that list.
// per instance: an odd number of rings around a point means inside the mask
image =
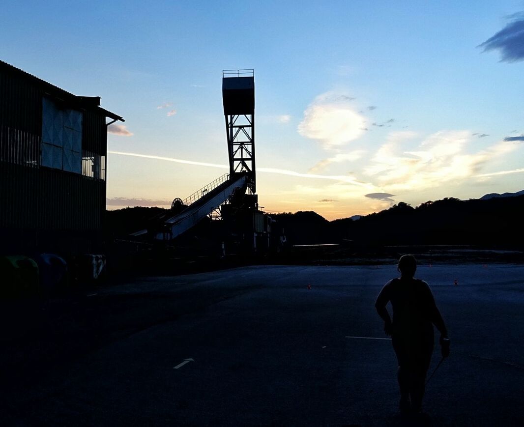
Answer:
[{"label": "silhouetted person standing on the asphalt, seen from behind", "polygon": [[[417,260],[403,255],[398,261],[400,278],[388,281],[375,302],[384,320],[384,332],[391,341],[398,360],[400,412],[421,412],[424,381],[433,353],[433,325],[441,333],[442,357],[449,356],[449,338],[444,320],[436,307],[429,284],[414,279]],[[393,320],[386,308],[391,302]]]}]

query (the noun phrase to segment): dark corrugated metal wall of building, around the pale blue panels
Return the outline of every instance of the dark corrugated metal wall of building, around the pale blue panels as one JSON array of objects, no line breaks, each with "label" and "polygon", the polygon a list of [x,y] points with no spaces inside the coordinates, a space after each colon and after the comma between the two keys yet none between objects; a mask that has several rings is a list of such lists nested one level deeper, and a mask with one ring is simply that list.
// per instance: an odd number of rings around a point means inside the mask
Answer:
[{"label": "dark corrugated metal wall of building, around the pale blue panels", "polygon": [[[0,251],[100,251],[105,181],[40,167],[46,92],[0,68]],[[83,114],[82,149],[105,156],[105,116]]]}]

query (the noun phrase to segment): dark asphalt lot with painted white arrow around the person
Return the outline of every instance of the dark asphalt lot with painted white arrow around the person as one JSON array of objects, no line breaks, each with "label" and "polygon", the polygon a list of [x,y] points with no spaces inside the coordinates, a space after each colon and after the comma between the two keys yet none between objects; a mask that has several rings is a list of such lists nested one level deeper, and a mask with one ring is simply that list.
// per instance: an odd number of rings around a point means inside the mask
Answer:
[{"label": "dark asphalt lot with painted white arrow around the person", "polygon": [[10,304],[2,425],[523,425],[524,266],[419,267],[452,340],[421,419],[397,413],[390,341],[348,338],[385,338],[395,276],[244,267]]}]

